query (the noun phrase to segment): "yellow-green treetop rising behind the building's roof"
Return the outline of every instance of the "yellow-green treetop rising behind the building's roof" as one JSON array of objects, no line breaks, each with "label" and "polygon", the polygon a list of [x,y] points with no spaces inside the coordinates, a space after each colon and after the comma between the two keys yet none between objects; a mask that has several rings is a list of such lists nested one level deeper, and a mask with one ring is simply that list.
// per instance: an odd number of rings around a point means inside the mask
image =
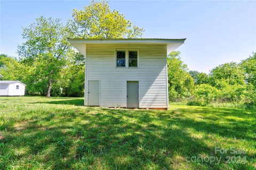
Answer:
[{"label": "yellow-green treetop rising behind the building's roof", "polygon": [[131,21],[118,11],[110,10],[106,1],[92,1],[84,10],[73,10],[73,20],[69,20],[69,29],[75,38],[137,38],[143,28],[132,26]]}]

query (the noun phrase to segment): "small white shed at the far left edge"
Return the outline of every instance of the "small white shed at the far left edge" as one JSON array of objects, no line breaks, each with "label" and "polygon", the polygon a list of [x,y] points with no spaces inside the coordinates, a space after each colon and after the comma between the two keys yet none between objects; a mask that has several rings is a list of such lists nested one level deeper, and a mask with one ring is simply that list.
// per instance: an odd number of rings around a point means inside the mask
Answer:
[{"label": "small white shed at the far left edge", "polygon": [[20,81],[0,81],[0,96],[24,96],[26,84]]}]

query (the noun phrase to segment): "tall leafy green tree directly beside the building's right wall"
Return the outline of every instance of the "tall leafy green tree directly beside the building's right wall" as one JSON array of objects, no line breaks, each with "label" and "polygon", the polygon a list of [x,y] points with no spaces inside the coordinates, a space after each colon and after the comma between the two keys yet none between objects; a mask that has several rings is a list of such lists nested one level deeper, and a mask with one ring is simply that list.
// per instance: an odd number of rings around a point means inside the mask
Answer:
[{"label": "tall leafy green tree directly beside the building's right wall", "polygon": [[167,57],[169,99],[177,101],[190,97],[194,80],[189,75],[187,65],[180,59],[180,52],[172,52]]}]

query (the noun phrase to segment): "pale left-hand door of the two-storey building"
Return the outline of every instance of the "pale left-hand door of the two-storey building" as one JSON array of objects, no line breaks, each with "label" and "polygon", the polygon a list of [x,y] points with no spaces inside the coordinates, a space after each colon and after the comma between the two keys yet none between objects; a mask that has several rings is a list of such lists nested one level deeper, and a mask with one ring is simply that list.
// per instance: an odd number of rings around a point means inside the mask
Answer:
[{"label": "pale left-hand door of the two-storey building", "polygon": [[99,81],[88,81],[88,106],[99,106]]}]

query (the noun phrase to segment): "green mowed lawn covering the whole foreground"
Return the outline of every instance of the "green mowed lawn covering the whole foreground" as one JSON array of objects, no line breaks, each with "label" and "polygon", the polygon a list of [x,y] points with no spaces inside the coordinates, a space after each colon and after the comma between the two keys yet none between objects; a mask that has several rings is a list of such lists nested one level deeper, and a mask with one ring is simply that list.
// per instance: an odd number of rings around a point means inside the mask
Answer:
[{"label": "green mowed lawn covering the whole foreground", "polygon": [[[215,153],[215,147],[229,150]],[[208,161],[213,157],[220,163]],[[256,113],[250,110],[130,110],[85,107],[83,98],[0,97],[0,169],[255,167]]]}]

